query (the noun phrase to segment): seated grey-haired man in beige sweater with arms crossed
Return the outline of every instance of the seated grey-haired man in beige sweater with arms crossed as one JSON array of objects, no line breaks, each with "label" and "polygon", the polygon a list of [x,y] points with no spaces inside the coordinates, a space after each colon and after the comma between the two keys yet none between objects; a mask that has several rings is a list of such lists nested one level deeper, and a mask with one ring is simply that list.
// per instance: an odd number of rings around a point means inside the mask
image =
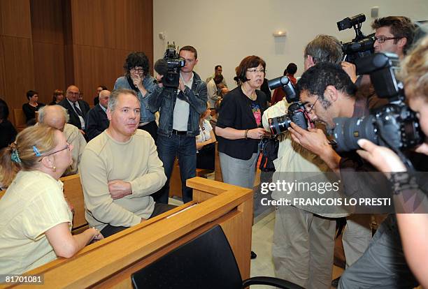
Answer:
[{"label": "seated grey-haired man in beige sweater with arms crossed", "polygon": [[112,91],[107,110],[110,125],[87,144],[80,162],[86,219],[104,237],[166,212],[150,194],[166,176],[149,133],[137,130],[140,103],[134,91]]}]

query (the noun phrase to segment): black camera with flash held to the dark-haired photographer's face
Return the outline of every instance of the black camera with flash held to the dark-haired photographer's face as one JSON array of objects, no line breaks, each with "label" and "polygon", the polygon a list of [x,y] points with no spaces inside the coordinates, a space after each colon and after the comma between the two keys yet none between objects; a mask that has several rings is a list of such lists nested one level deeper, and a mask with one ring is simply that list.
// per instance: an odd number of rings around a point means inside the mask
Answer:
[{"label": "black camera with flash held to the dark-haired photographer's face", "polygon": [[281,117],[273,117],[268,119],[271,133],[273,135],[278,135],[278,133],[287,131],[291,122],[294,122],[294,124],[297,124],[301,128],[307,130],[308,121],[310,121],[310,119],[306,115],[304,105],[299,102],[299,96],[296,94],[294,85],[288,79],[288,77],[280,76],[274,78],[273,80],[269,80],[268,85],[269,89],[271,90],[282,87],[283,91],[285,92],[285,99],[287,100],[287,103],[291,103],[288,107],[287,114]]}]

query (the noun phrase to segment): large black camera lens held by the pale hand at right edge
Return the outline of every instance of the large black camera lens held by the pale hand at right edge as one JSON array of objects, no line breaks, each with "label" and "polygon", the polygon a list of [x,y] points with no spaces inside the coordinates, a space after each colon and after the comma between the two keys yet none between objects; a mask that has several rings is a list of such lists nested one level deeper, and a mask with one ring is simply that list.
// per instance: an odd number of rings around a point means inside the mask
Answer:
[{"label": "large black camera lens held by the pale hand at right edge", "polygon": [[376,117],[336,117],[333,119],[336,126],[334,127],[333,136],[336,141],[336,151],[352,151],[359,149],[357,140],[365,138],[375,144],[378,144],[376,135],[375,121]]}]

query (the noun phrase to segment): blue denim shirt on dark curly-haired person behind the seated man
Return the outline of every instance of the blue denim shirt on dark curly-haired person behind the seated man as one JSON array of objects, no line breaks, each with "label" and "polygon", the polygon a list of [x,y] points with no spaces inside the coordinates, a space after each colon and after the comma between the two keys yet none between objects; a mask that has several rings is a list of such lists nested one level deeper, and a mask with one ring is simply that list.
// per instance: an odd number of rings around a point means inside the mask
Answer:
[{"label": "blue denim shirt on dark curly-haired person behind the seated man", "polygon": [[[150,112],[149,105],[148,105],[148,96],[152,93],[152,91],[156,87],[156,84],[153,82],[154,80],[155,78],[153,78],[151,75],[147,75],[146,77],[144,77],[143,85],[144,85],[144,88],[147,89],[147,94],[145,94],[145,96],[142,96],[141,92],[138,91],[137,96],[141,106],[140,122],[150,122],[155,120],[155,114]],[[121,89],[121,88],[131,89],[127,81],[127,77],[122,76],[117,78],[114,89]]]}]

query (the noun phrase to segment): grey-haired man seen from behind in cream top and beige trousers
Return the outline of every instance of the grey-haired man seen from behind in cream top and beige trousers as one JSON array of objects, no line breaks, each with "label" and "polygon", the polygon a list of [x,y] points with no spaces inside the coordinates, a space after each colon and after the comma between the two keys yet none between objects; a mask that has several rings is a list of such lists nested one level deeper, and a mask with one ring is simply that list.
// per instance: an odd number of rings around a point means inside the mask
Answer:
[{"label": "grey-haired man seen from behind in cream top and beige trousers", "polygon": [[[333,36],[320,35],[305,47],[304,68],[307,70],[322,61],[340,64],[341,58],[341,43]],[[283,116],[289,105],[284,98],[264,112],[263,126],[266,131],[270,131],[269,118]],[[278,158],[273,163],[276,169],[273,177],[280,179],[290,177],[291,172],[294,174],[293,177],[304,178],[311,172],[319,172],[318,175],[322,176],[324,172],[329,171],[321,158],[293,142],[290,133],[287,132],[279,136]],[[272,192],[273,200],[280,200],[283,196],[283,192]],[[321,215],[317,208],[308,206],[276,207],[272,245],[276,276],[305,288],[330,288],[336,229],[334,218],[346,215],[348,214]],[[366,233],[365,231],[369,230],[364,228],[361,230],[356,223],[351,231],[352,243],[355,245],[346,253],[356,256],[356,260],[369,244],[371,232]]]}]

